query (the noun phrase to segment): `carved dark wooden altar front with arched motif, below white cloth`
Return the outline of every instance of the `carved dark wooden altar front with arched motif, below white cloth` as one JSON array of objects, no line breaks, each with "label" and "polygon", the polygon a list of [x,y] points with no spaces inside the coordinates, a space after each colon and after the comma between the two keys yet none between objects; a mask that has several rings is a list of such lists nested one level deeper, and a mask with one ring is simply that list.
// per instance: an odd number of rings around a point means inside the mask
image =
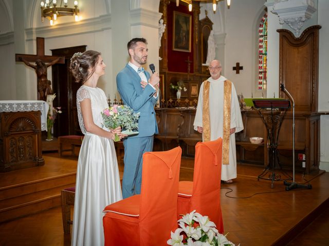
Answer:
[{"label": "carved dark wooden altar front with arched motif, below white cloth", "polygon": [[0,113],[0,171],[44,165],[41,112]]}]

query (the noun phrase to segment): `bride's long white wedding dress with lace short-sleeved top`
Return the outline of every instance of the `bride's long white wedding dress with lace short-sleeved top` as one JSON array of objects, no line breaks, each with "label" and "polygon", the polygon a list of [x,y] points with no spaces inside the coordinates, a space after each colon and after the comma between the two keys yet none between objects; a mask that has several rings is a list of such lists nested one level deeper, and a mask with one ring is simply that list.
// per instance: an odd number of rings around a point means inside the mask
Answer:
[{"label": "bride's long white wedding dress with lace short-sleeved top", "polygon": [[[122,199],[117,156],[112,139],[86,132],[80,102],[90,98],[93,119],[102,126],[108,108],[100,88],[81,86],[77,92],[79,125],[85,134],[79,153],[71,245],[104,245],[103,209]],[[108,130],[107,130],[108,131]]]}]

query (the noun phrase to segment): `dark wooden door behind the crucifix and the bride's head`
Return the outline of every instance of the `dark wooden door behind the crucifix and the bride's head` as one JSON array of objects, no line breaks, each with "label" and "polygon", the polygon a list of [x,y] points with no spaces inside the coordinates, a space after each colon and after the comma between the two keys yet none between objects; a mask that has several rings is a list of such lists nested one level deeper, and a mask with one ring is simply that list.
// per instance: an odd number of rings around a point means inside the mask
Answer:
[{"label": "dark wooden door behind the crucifix and the bride's head", "polygon": [[62,107],[62,113],[54,122],[54,136],[82,135],[77,115],[77,91],[81,84],[75,83],[69,65],[76,52],[84,52],[86,46],[54,49],[52,55],[65,56],[65,64],[52,66],[52,90],[56,93],[54,107]]}]

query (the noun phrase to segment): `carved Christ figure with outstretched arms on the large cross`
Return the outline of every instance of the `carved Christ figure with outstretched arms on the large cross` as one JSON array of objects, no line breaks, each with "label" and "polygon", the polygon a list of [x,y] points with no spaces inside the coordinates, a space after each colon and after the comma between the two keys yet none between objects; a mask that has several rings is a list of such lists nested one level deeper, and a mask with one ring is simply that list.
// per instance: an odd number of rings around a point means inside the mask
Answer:
[{"label": "carved Christ figure with outstretched arms on the large cross", "polygon": [[61,57],[58,57],[57,59],[51,61],[51,63],[44,63],[41,59],[37,59],[35,61],[35,65],[29,63],[24,58],[20,57],[20,60],[22,60],[27,66],[33,68],[36,73],[37,77],[37,89],[38,89],[38,100],[47,100],[47,95],[52,94],[51,89],[51,81],[47,78],[47,68],[56,64],[57,61],[59,61]]}]

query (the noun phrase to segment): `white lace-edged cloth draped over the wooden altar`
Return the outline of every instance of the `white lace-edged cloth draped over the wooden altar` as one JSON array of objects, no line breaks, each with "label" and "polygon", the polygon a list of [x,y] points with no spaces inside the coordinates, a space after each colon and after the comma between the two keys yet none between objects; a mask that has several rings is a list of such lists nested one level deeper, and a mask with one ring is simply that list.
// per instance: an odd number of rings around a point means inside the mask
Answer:
[{"label": "white lace-edged cloth draped over the wooden altar", "polygon": [[49,105],[40,100],[0,100],[0,113],[2,112],[26,112],[41,111],[41,130],[47,131],[47,114]]}]

